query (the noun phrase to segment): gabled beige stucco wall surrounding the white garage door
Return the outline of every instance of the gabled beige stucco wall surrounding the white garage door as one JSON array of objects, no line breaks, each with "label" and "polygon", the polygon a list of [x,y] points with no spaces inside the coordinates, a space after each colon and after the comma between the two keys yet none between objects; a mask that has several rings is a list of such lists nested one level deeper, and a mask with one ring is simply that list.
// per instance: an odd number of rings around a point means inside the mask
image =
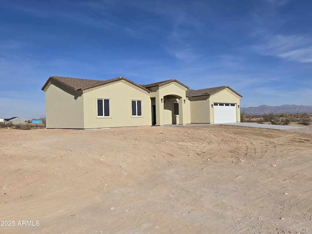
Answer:
[{"label": "gabled beige stucco wall surrounding the white garage door", "polygon": [[[240,105],[240,99],[241,99],[241,96],[237,95],[232,90],[225,88],[221,90],[220,92],[217,92],[210,96],[209,105],[211,107],[211,105],[213,105],[214,102],[236,104],[235,105],[236,106],[236,122],[241,122],[241,113],[240,113],[240,109],[238,109],[238,106]],[[212,111],[210,112],[211,123],[214,123],[214,112],[213,112],[214,108],[210,108],[210,109],[212,109]]]}]

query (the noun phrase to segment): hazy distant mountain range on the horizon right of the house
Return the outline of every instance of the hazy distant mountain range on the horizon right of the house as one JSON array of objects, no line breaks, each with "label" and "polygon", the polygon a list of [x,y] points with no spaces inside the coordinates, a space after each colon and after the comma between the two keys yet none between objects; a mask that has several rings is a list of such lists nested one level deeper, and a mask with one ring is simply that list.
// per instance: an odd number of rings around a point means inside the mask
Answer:
[{"label": "hazy distant mountain range on the horizon right of the house", "polygon": [[[241,107],[241,111],[243,108]],[[274,112],[277,114],[295,114],[299,113],[312,113],[312,106],[298,106],[298,105],[281,105],[281,106],[267,106],[261,105],[257,107],[245,107],[245,114],[248,115],[263,115],[264,113]]]}]

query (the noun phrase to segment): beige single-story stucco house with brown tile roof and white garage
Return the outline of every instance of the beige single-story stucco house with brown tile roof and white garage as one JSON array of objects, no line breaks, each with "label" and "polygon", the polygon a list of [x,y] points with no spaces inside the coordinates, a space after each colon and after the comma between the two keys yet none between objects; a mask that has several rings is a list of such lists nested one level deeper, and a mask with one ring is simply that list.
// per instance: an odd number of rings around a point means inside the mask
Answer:
[{"label": "beige single-story stucco house with brown tile roof and white garage", "polygon": [[50,76],[46,128],[93,129],[240,122],[241,95],[228,86],[192,90],[176,79],[139,85],[124,77]]}]

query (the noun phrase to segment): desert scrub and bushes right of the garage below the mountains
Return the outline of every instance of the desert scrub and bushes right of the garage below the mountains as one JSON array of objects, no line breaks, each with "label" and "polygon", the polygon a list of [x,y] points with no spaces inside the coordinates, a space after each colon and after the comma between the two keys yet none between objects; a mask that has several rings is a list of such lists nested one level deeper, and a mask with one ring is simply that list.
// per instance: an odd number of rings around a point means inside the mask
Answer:
[{"label": "desert scrub and bushes right of the garage below the mountains", "polygon": [[[244,110],[241,112],[241,122],[258,124],[279,124],[279,125],[305,125],[311,126],[312,114],[276,114],[274,112],[264,113],[263,115],[247,115]],[[311,126],[312,127],[312,126]]]}]

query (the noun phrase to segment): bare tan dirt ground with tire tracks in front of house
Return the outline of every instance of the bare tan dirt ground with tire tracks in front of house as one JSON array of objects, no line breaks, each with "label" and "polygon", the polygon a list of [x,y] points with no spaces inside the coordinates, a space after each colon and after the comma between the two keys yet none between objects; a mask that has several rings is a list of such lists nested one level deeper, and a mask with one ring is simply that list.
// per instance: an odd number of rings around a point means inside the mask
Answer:
[{"label": "bare tan dirt ground with tire tracks in front of house", "polygon": [[226,125],[0,129],[0,220],[15,221],[0,233],[312,233],[311,143]]}]

